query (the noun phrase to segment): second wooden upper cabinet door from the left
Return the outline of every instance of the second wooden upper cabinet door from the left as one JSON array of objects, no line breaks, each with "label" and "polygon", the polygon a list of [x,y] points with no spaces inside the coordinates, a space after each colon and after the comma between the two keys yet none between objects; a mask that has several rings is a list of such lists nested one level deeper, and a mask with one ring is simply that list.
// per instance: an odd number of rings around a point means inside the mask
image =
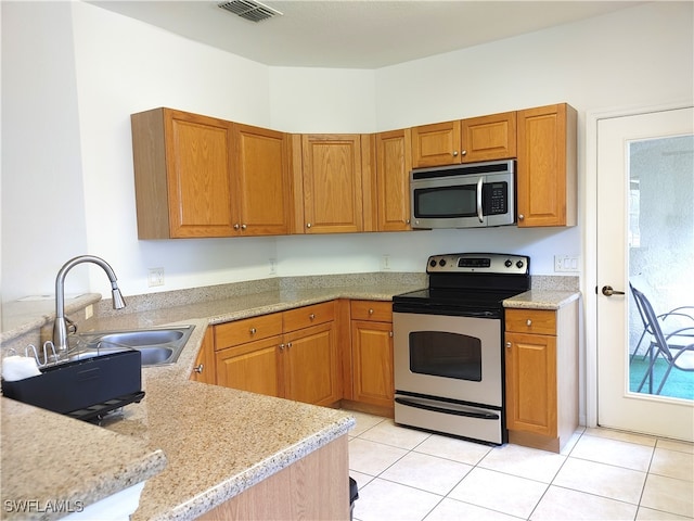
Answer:
[{"label": "second wooden upper cabinet door from the left", "polygon": [[234,229],[244,236],[290,232],[292,191],[288,137],[266,128],[234,124]]}]

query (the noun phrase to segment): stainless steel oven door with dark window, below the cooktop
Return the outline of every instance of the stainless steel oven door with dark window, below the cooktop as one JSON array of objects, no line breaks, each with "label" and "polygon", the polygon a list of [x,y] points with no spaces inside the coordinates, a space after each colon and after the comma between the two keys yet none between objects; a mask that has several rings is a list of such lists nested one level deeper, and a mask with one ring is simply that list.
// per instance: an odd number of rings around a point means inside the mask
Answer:
[{"label": "stainless steel oven door with dark window, below the cooktop", "polygon": [[501,408],[501,319],[394,313],[396,391]]}]

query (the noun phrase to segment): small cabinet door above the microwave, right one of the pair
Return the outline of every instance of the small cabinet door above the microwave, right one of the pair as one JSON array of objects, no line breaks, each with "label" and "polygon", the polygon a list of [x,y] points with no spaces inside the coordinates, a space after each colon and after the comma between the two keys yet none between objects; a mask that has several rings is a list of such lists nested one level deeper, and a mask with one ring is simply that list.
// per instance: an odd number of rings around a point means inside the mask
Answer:
[{"label": "small cabinet door above the microwave, right one of the pair", "polygon": [[461,124],[463,163],[516,156],[515,112],[471,117]]}]

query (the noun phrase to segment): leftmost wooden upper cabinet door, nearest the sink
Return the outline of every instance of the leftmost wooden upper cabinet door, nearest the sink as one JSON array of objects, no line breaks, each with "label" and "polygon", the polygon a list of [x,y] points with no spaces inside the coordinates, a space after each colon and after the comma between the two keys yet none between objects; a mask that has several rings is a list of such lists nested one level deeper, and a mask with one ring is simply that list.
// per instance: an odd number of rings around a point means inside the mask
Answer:
[{"label": "leftmost wooden upper cabinet door, nearest the sink", "polygon": [[171,237],[232,236],[232,124],[179,111],[165,115]]}]

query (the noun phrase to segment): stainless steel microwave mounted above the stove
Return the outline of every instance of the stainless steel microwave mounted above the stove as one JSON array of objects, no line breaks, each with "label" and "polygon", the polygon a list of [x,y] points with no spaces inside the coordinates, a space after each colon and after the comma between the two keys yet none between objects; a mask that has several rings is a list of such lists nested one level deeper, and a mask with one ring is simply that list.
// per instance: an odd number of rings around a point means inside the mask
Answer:
[{"label": "stainless steel microwave mounted above the stove", "polygon": [[516,223],[515,161],[410,173],[413,228],[484,228]]}]

